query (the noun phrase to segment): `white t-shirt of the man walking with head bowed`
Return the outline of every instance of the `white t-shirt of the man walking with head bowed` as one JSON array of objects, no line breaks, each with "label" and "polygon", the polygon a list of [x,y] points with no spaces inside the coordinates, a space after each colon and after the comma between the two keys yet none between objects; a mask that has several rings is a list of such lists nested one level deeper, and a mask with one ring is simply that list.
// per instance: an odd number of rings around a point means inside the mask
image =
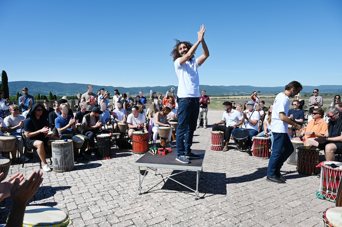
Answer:
[{"label": "white t-shirt of the man walking with head bowed", "polygon": [[289,124],[280,120],[279,113],[284,112],[285,116],[287,116],[287,112],[289,112],[289,100],[289,97],[285,95],[284,92],[279,93],[274,99],[272,111],[272,132],[287,132]]}]

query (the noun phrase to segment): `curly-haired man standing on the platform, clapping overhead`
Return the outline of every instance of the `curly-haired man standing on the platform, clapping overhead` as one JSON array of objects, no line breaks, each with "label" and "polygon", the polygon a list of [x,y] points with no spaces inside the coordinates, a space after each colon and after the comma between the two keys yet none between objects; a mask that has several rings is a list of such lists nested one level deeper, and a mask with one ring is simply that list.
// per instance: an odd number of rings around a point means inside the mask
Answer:
[{"label": "curly-haired man standing on the platform, clapping overhead", "polygon": [[[176,134],[177,157],[176,160],[182,163],[189,163],[189,159],[199,159],[199,155],[191,152],[194,131],[196,130],[196,119],[199,114],[199,75],[197,68],[200,67],[209,57],[209,51],[204,41],[204,25],[197,32],[197,42],[192,45],[190,42],[176,41],[171,52],[175,71],[178,77],[178,127]],[[195,51],[202,43],[203,54],[194,59]],[[185,142],[184,142],[185,140]]]}]

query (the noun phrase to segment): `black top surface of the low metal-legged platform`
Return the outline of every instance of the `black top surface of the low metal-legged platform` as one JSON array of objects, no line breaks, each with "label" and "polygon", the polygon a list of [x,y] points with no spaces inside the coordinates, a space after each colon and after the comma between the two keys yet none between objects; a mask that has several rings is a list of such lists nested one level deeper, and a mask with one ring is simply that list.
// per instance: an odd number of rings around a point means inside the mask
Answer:
[{"label": "black top surface of the low metal-legged platform", "polygon": [[190,163],[184,164],[176,161],[177,150],[172,149],[171,153],[167,155],[153,155],[149,152],[139,158],[134,166],[144,166],[153,168],[167,168],[167,169],[185,169],[185,170],[202,170],[205,150],[192,150],[192,153],[199,155],[199,159],[189,159]]}]

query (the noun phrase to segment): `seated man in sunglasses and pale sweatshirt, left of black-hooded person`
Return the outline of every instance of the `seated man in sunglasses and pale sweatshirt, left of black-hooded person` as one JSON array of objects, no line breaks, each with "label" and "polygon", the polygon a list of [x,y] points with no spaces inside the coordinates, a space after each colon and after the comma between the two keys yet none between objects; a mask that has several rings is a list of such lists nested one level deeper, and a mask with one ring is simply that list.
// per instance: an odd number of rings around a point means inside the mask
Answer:
[{"label": "seated man in sunglasses and pale sweatshirt, left of black-hooded person", "polygon": [[[28,161],[29,158],[24,157],[24,144],[23,144],[23,138],[20,135],[22,127],[24,127],[25,124],[25,117],[18,115],[19,113],[19,107],[17,105],[10,105],[9,106],[11,115],[5,117],[4,123],[8,127],[8,131],[11,136],[14,136],[18,140],[19,145],[19,160],[21,161]],[[17,144],[14,145],[13,150],[11,151],[12,157],[16,157],[16,151],[17,151]]]}]

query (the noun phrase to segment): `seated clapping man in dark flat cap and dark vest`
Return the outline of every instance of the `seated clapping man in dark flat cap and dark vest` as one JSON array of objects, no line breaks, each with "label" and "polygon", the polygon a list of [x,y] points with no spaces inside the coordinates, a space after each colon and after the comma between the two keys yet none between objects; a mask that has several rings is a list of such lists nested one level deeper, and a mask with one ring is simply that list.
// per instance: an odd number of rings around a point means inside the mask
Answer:
[{"label": "seated clapping man in dark flat cap and dark vest", "polygon": [[90,153],[92,157],[95,157],[95,136],[96,134],[109,134],[109,130],[102,130],[102,123],[100,115],[103,112],[98,107],[93,107],[90,113],[83,116],[81,133],[88,137]]}]

